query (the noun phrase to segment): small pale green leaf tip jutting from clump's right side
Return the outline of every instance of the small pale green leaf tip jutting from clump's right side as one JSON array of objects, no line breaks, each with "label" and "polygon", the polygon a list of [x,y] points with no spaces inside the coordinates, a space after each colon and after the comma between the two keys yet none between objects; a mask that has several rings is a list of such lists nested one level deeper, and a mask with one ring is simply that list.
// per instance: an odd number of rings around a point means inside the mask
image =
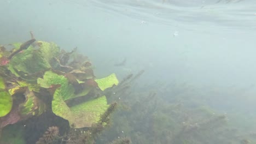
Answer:
[{"label": "small pale green leaf tip jutting from clump's right side", "polygon": [[98,83],[98,87],[104,91],[106,88],[112,87],[114,85],[118,85],[119,81],[117,79],[117,76],[115,74],[111,74],[107,77],[104,77],[102,79],[95,80]]}]

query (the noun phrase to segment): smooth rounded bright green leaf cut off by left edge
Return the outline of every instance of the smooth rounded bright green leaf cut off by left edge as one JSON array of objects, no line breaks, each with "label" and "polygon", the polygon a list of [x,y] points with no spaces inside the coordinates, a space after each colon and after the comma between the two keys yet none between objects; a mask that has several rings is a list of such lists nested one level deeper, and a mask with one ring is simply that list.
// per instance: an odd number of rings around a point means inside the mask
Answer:
[{"label": "smooth rounded bright green leaf cut off by left edge", "polygon": [[0,117],[7,115],[11,107],[13,106],[13,100],[8,92],[0,92]]}]

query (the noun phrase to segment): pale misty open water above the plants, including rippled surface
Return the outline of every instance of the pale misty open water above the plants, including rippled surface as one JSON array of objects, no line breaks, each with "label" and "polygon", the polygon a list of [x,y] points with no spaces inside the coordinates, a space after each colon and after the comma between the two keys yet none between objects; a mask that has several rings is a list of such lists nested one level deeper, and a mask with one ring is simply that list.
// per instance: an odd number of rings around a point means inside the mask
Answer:
[{"label": "pale misty open water above the plants, including rippled surface", "polygon": [[[183,87],[188,94],[178,99],[184,105],[195,98],[220,113],[256,118],[256,1],[2,0],[0,5],[1,44],[26,41],[33,31],[36,39],[62,49],[77,46],[99,78],[114,72],[122,79],[143,69],[134,91],[154,89],[168,101]],[[114,66],[124,59],[124,66]]]}]

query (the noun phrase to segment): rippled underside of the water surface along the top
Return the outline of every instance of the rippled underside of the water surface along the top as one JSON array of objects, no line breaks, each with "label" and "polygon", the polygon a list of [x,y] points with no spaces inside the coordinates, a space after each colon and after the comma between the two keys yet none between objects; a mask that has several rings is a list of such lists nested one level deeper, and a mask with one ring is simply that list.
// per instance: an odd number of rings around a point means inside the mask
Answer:
[{"label": "rippled underside of the water surface along the top", "polygon": [[123,0],[123,1],[72,1],[80,6],[95,5],[114,14],[136,19],[165,23],[166,25],[204,25],[243,27],[255,29],[255,5],[252,0]]}]

